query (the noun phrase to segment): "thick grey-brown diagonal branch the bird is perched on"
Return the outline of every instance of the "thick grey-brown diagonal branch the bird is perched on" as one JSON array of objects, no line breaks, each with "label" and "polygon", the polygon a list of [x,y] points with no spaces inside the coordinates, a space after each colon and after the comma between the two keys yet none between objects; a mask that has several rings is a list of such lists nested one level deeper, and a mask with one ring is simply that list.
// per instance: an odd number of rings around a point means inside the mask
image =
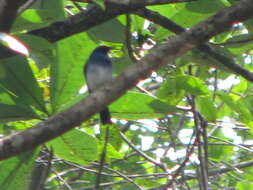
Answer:
[{"label": "thick grey-brown diagonal branch the bird is perched on", "polygon": [[154,48],[138,64],[130,65],[120,76],[68,110],[53,115],[28,130],[1,139],[0,160],[34,149],[80,125],[134,87],[139,79],[148,77],[150,71],[167,65],[210,37],[228,30],[233,22],[253,17],[252,10],[251,0],[242,0],[224,9],[192,29],[169,39],[167,43]]}]

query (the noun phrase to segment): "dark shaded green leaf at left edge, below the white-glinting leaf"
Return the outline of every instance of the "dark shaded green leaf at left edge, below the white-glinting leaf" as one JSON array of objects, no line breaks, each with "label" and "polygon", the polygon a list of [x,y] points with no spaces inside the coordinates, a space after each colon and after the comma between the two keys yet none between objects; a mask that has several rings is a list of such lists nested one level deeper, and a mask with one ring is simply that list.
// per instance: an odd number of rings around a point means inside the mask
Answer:
[{"label": "dark shaded green leaf at left edge, below the white-glinting leaf", "polygon": [[18,104],[34,106],[47,113],[42,89],[24,57],[13,56],[1,60],[0,84],[13,95]]}]

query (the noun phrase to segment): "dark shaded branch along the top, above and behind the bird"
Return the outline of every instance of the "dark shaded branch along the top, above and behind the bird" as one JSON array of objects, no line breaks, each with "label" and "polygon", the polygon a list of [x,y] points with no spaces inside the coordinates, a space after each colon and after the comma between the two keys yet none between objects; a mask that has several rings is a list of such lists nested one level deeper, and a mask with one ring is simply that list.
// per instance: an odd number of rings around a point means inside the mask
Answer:
[{"label": "dark shaded branch along the top, above and behind the bird", "polygon": [[[92,2],[92,1],[90,1]],[[120,2],[120,3],[118,3]],[[124,3],[127,2],[127,3]],[[96,25],[102,24],[121,14],[135,12],[147,5],[175,3],[175,0],[107,0],[106,10],[102,10],[97,5],[91,5],[86,11],[71,16],[65,20],[55,22],[48,27],[32,30],[28,34],[37,35],[47,39],[50,42],[56,42],[86,31]],[[96,18],[96,19],[94,19]]]}]

